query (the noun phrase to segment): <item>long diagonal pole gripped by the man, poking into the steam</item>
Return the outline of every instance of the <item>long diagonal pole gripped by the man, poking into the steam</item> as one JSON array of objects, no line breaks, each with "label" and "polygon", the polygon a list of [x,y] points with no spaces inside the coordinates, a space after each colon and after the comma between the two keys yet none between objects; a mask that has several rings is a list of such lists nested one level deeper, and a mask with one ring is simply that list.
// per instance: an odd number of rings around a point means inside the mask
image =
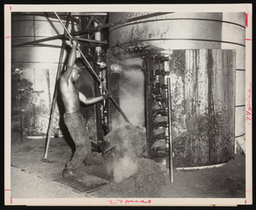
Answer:
[{"label": "long diagonal pole gripped by the man, poking into the steam", "polygon": [[[55,12],[54,12],[54,13],[55,13]],[[64,24],[62,23],[62,21],[61,21],[60,17],[58,16],[58,14],[55,13],[55,15],[56,15],[56,17],[58,18],[58,20],[61,22],[61,25],[64,27],[65,31],[67,31],[67,28],[66,28],[66,27],[64,26]],[[67,35],[68,35],[70,38],[73,38],[73,37],[71,36],[71,34],[70,34],[68,31],[67,31]],[[80,49],[79,47],[78,47],[78,50],[79,50],[79,53],[83,56],[83,58],[84,58],[86,64],[88,65],[90,71],[94,74],[94,76],[96,77],[96,79],[98,80],[98,82],[100,82],[100,84],[102,85],[102,88],[105,90],[106,93],[109,93],[109,92],[108,92],[108,89],[105,87],[105,85],[103,84],[103,82],[101,81],[101,79],[97,76],[96,72],[93,70],[93,68],[91,67],[89,61],[85,58],[84,54],[82,53],[82,51],[81,51],[81,49]],[[119,105],[114,101],[113,97],[110,97],[110,99],[112,100],[113,105],[115,105],[115,107],[118,109],[118,111],[120,112],[120,114],[125,118],[125,121],[131,124],[131,122],[128,120],[127,116],[125,116],[124,111],[121,110],[121,108],[119,107]],[[131,126],[132,126],[132,124],[131,124]]]}]

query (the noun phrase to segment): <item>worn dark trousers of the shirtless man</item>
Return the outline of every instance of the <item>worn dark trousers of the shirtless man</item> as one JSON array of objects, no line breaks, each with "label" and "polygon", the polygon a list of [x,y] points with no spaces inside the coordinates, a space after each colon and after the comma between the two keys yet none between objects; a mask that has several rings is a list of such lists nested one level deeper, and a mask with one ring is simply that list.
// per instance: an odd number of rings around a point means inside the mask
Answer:
[{"label": "worn dark trousers of the shirtless man", "polygon": [[85,129],[84,118],[79,111],[65,113],[64,122],[75,144],[75,152],[66,167],[75,170],[84,161],[92,161],[90,139]]}]

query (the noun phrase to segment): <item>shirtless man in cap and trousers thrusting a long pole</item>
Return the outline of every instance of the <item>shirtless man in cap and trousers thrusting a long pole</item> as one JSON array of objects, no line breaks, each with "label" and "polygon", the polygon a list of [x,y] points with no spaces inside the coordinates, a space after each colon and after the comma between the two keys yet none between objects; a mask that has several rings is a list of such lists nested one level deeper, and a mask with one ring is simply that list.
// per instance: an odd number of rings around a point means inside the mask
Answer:
[{"label": "shirtless man in cap and trousers thrusting a long pole", "polygon": [[70,162],[67,162],[63,170],[62,176],[64,178],[72,177],[75,170],[80,164],[100,164],[102,162],[94,160],[91,156],[91,145],[88,133],[85,129],[84,118],[79,111],[79,103],[83,102],[85,105],[92,105],[102,99],[108,99],[111,95],[104,94],[95,98],[86,98],[84,94],[80,93],[74,86],[74,82],[79,79],[79,72],[81,71],[77,65],[74,64],[76,60],[76,49],[78,42],[76,39],[72,40],[73,47],[68,58],[66,71],[61,75],[60,90],[61,98],[65,106],[64,122],[74,141],[76,150]]}]

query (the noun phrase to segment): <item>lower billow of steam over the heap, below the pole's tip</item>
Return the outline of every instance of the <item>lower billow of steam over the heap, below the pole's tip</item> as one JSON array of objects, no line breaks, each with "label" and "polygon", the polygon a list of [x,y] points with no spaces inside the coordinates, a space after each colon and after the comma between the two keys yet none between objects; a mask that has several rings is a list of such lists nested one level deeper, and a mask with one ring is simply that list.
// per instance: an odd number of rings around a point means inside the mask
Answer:
[{"label": "lower billow of steam over the heap, below the pole's tip", "polygon": [[108,159],[108,174],[113,175],[117,183],[137,173],[138,158],[146,144],[145,129],[126,125],[113,129],[104,139],[110,140],[115,147],[112,157]]}]

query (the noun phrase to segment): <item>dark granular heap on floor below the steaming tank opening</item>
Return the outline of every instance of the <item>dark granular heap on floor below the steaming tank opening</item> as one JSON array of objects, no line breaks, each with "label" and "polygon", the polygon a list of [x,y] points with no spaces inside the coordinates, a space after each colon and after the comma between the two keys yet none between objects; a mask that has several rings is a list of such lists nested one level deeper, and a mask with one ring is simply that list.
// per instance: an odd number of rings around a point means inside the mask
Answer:
[{"label": "dark granular heap on floor below the steaming tank opening", "polygon": [[111,182],[91,194],[96,197],[159,197],[165,184],[160,165],[153,160],[138,158],[137,173],[123,181]]}]

